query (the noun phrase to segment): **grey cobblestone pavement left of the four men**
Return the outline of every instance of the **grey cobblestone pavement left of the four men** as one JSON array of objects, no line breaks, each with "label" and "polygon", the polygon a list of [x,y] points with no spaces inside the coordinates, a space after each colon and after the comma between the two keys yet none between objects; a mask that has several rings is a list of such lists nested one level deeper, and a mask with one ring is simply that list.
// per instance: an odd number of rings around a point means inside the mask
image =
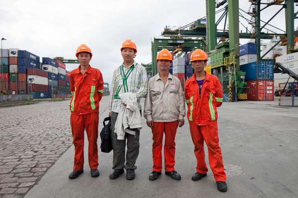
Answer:
[{"label": "grey cobblestone pavement left of the four men", "polygon": [[68,105],[0,109],[0,198],[22,198],[72,145]]}]

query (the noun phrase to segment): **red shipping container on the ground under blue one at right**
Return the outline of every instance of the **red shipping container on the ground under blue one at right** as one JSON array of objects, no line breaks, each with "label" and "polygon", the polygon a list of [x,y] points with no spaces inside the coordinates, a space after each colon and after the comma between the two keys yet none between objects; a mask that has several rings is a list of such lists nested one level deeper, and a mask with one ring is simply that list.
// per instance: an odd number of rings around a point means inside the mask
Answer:
[{"label": "red shipping container on the ground under blue one at right", "polygon": [[273,80],[246,81],[249,100],[274,100]]}]

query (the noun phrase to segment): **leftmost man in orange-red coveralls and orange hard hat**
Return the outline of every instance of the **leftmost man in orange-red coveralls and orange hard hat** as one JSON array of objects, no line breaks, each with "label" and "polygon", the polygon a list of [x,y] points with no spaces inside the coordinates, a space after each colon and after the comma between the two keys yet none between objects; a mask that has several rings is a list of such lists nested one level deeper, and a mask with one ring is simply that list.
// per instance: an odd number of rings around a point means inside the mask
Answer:
[{"label": "leftmost man in orange-red coveralls and orange hard hat", "polygon": [[88,161],[91,177],[98,177],[97,137],[99,101],[103,95],[103,80],[101,72],[89,65],[92,52],[86,45],[80,45],[76,49],[75,56],[80,65],[70,75],[73,95],[70,108],[74,143],[74,171],[69,178],[75,179],[83,172],[84,130],[86,130],[89,143]]}]

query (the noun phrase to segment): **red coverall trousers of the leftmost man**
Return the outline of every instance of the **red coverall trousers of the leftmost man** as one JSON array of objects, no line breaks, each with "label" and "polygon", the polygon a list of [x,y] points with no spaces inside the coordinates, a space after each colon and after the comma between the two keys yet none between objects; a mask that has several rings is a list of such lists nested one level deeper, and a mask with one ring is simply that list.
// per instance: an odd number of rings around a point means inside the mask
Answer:
[{"label": "red coverall trousers of the leftmost man", "polygon": [[98,167],[98,112],[76,115],[71,114],[71,126],[74,143],[74,170],[82,170],[84,166],[84,130],[88,138],[88,161],[90,169]]}]

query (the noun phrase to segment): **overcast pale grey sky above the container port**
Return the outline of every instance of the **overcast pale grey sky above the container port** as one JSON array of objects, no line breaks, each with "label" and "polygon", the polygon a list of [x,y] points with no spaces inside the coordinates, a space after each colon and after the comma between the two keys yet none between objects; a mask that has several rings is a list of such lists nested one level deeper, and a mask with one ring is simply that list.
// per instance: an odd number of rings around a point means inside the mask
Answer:
[{"label": "overcast pale grey sky above the container port", "polygon": [[[239,1],[240,8],[248,10],[249,1]],[[122,63],[120,47],[124,40],[131,39],[136,43],[137,62],[149,63],[151,39],[159,36],[166,25],[183,26],[205,16],[205,2],[0,0],[0,37],[7,39],[3,41],[4,49],[18,48],[51,58],[74,59],[76,48],[86,44],[93,52],[90,64],[100,69],[104,81],[110,83],[113,70]],[[269,19],[278,9],[278,6],[266,9],[262,19]],[[247,25],[243,19],[240,21]],[[272,24],[285,29],[284,12]],[[240,29],[244,30],[241,25]],[[75,67],[77,65],[67,64],[67,70]]]}]

